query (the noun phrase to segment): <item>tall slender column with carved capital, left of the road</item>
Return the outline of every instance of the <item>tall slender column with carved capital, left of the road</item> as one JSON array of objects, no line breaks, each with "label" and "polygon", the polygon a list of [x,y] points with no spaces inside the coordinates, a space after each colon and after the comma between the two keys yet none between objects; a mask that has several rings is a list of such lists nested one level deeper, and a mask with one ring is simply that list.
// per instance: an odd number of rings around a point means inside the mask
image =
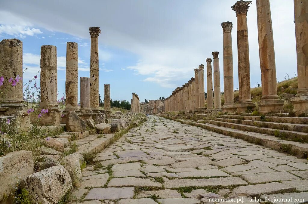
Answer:
[{"label": "tall slender column with carved capital, left of the road", "polygon": [[98,36],[101,33],[99,27],[90,27],[91,59],[90,59],[90,107],[93,113],[99,111],[99,63],[98,63]]}]

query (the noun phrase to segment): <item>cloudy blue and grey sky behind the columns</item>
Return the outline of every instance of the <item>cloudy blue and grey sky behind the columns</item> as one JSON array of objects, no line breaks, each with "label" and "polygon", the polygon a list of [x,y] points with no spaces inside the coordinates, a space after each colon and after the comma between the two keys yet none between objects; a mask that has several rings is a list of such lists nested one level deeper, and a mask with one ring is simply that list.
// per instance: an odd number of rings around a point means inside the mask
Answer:
[{"label": "cloudy blue and grey sky behind the columns", "polygon": [[[40,47],[58,55],[59,98],[65,93],[66,43],[78,43],[78,77],[90,75],[89,27],[100,27],[99,93],[110,84],[113,100],[168,97],[219,51],[223,91],[221,23],[233,22],[234,89],[238,88],[235,0],[1,0],[0,41],[23,42],[24,82],[40,69]],[[294,4],[270,0],[277,80],[297,75]],[[247,14],[251,87],[261,84],[256,1]],[[213,66],[213,65],[212,65]],[[38,78],[39,80],[39,78]],[[206,81],[205,81],[206,90]],[[80,93],[78,92],[78,97]]]}]

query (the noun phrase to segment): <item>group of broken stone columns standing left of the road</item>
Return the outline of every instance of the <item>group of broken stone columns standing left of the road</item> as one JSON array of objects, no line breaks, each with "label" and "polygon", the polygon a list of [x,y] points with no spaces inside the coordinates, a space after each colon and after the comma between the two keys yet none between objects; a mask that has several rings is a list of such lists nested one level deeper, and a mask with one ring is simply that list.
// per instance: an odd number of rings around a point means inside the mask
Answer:
[{"label": "group of broken stone columns standing left of the road", "polygon": [[[99,63],[98,36],[99,27],[90,27],[91,59],[90,77],[80,77],[80,107],[78,106],[78,44],[67,43],[66,52],[66,81],[65,81],[65,109],[59,109],[57,102],[57,47],[43,45],[41,47],[40,62],[40,104],[39,108],[48,109],[40,119],[44,125],[59,125],[65,122],[65,115],[75,111],[85,119],[92,119],[93,114],[100,114],[99,110]],[[0,67],[4,77],[0,86],[0,116],[27,115],[22,90],[22,41],[18,39],[4,39],[0,42]],[[19,75],[20,80],[13,86],[10,79]],[[104,85],[105,112],[111,113],[110,84]],[[64,115],[64,116],[63,116]],[[61,118],[61,116],[63,118]]]}]

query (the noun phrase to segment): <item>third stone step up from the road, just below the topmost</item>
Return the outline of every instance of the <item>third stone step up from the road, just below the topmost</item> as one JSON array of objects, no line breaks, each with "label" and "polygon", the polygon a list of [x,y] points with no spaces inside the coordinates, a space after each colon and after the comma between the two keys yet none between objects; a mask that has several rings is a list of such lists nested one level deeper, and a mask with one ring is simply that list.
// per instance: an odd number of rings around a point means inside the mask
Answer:
[{"label": "third stone step up from the road, just below the topmost", "polygon": [[211,120],[235,123],[235,124],[258,126],[258,127],[263,127],[263,128],[290,130],[290,131],[308,133],[308,124],[276,123],[276,122],[259,121],[259,120],[239,120],[239,119],[229,119],[229,118],[219,118],[219,117],[211,118]]}]

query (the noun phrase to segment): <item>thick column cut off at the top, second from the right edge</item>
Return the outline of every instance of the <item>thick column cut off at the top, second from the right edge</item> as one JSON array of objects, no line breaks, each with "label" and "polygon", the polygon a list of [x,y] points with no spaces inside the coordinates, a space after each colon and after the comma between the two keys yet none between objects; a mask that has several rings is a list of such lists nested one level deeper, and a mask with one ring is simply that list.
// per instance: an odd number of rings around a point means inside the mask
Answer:
[{"label": "thick column cut off at the top, second from the right edge", "polygon": [[257,22],[262,82],[262,96],[258,103],[259,112],[267,113],[283,109],[283,101],[277,96],[277,78],[274,37],[270,0],[257,0]]}]

